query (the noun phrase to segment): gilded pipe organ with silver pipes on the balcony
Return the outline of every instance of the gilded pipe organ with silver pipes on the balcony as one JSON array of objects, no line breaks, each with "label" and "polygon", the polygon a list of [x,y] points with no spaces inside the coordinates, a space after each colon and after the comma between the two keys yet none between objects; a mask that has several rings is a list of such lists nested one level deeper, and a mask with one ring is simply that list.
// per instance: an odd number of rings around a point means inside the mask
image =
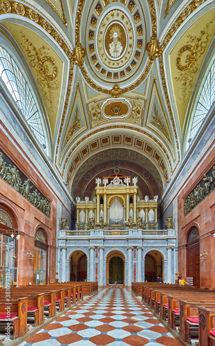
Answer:
[{"label": "gilded pipe organ with silver pipes on the balcony", "polygon": [[95,179],[95,197],[77,201],[76,229],[158,228],[158,196],[138,197],[138,177],[122,174]]}]

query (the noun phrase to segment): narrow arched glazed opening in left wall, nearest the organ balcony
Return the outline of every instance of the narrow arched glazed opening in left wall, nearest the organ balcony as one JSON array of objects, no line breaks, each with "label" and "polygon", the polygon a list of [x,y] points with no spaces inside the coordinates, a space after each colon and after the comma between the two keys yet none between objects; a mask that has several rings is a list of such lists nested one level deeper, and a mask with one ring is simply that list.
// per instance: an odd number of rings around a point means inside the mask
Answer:
[{"label": "narrow arched glazed opening in left wall, nearest the organ balcony", "polygon": [[35,234],[34,283],[46,284],[48,245],[44,231],[38,229]]}]

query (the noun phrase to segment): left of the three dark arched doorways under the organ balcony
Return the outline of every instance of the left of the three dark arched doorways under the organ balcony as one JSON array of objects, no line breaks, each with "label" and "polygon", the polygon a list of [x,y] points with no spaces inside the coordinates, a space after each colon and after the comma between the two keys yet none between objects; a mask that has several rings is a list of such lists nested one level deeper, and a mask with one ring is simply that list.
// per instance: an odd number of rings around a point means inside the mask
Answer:
[{"label": "left of the three dark arched doorways under the organ balcony", "polygon": [[71,255],[71,281],[87,280],[87,259],[83,251],[75,251]]}]

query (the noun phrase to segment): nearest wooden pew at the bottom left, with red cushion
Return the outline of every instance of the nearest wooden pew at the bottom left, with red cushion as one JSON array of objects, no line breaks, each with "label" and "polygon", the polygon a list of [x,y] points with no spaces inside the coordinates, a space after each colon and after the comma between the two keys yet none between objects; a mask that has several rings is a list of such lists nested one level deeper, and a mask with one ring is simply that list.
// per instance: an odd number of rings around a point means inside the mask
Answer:
[{"label": "nearest wooden pew at the bottom left, with red cushion", "polygon": [[[28,298],[1,300],[0,302],[0,329],[6,332],[6,337],[15,340],[19,336],[24,336],[28,331],[27,326]],[[9,315],[8,315],[9,313]],[[8,318],[10,316],[10,324]]]}]

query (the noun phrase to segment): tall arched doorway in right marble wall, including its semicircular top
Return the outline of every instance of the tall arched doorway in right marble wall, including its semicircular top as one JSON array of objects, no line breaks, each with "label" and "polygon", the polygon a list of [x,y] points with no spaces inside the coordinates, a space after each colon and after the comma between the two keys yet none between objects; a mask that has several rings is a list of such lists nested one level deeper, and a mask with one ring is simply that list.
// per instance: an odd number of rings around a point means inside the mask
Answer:
[{"label": "tall arched doorway in right marble wall, including its semicircular top", "polygon": [[187,236],[187,277],[193,277],[194,286],[200,286],[200,246],[196,227]]}]

